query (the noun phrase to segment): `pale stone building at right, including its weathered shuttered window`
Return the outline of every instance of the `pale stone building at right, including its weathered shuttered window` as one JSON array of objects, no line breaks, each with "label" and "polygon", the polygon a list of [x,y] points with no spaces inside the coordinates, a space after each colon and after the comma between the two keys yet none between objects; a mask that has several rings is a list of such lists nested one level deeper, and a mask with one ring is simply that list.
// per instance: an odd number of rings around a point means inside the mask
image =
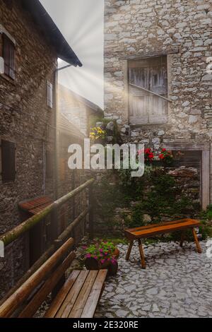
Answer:
[{"label": "pale stone building at right, including its weathered shuttered window", "polygon": [[[180,150],[211,187],[211,4],[105,0],[105,117],[123,141]],[[212,194],[212,192],[211,192]]]}]

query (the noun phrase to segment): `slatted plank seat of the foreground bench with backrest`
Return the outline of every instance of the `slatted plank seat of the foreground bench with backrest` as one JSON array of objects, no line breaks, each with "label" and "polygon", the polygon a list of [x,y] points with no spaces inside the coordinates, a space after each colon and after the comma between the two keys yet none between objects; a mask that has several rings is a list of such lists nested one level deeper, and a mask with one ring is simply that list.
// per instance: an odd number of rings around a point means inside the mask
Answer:
[{"label": "slatted plank seat of the foreground bench with backrest", "polygon": [[45,318],[92,318],[107,270],[73,271],[52,302]]}]

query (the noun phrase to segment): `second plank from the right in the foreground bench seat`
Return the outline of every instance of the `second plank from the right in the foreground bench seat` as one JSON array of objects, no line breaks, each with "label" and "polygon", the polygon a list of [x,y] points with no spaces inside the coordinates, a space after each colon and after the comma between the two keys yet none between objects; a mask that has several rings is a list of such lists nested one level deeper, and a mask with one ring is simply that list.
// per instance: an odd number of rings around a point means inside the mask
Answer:
[{"label": "second plank from the right in the foreground bench seat", "polygon": [[89,272],[88,277],[86,278],[86,281],[81,289],[81,292],[79,293],[78,298],[74,304],[74,307],[69,314],[69,318],[79,318],[81,316],[97,275],[98,271]]}]

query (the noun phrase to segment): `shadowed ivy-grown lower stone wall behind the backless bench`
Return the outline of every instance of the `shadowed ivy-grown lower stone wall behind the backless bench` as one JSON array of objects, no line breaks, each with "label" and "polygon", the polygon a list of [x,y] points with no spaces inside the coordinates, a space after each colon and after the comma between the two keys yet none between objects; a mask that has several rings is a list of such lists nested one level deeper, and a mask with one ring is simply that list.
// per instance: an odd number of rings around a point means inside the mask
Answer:
[{"label": "shadowed ivy-grown lower stone wall behind the backless bench", "polygon": [[[144,208],[141,203],[149,198],[154,198],[149,194],[154,191],[154,184],[151,180],[144,180],[142,193],[136,194],[139,186],[131,185],[130,192],[122,185],[122,179],[117,172],[93,172],[97,182],[95,185],[95,235],[98,237],[124,237],[124,229],[129,227],[139,227],[139,225],[148,225],[149,223],[159,223],[161,221],[170,221],[180,218],[196,218],[200,211],[200,173],[198,167],[175,166],[161,169],[163,174],[167,174],[175,181],[177,189],[175,196],[175,208],[166,206],[158,209],[157,200],[160,205],[163,191],[157,194],[154,203],[148,202]],[[165,173],[163,173],[165,172]],[[138,181],[142,181],[138,180]],[[168,186],[168,183],[167,183]],[[164,189],[165,191],[165,189]],[[140,196],[140,198],[139,198]],[[163,205],[164,201],[161,201]],[[181,206],[179,205],[181,204]],[[139,207],[139,208],[138,208]],[[134,215],[137,209],[136,215]]]}]

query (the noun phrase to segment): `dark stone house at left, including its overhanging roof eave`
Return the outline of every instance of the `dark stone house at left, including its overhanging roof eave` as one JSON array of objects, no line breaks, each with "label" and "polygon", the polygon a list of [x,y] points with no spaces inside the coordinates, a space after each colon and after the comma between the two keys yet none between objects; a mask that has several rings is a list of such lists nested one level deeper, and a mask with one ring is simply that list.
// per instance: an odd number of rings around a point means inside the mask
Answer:
[{"label": "dark stone house at left, including its overhanging roof eave", "polygon": [[[0,9],[0,234],[3,234],[35,212],[26,208],[20,213],[18,205],[23,201],[31,201],[37,208],[43,196],[47,201],[56,196],[54,165],[61,158],[54,153],[57,58],[73,66],[81,66],[81,62],[40,1],[0,0]],[[67,136],[64,129],[61,131],[61,138]],[[73,140],[75,136],[71,137]],[[66,182],[65,175],[63,179]],[[66,186],[64,191],[71,188]],[[57,191],[64,194],[61,189]],[[45,230],[36,230],[40,237],[31,251],[30,234],[6,247],[5,259],[0,261],[0,297],[35,261],[39,250],[45,248],[47,243],[41,242],[44,238],[48,242],[47,228],[51,233],[51,223],[43,227]]]}]

